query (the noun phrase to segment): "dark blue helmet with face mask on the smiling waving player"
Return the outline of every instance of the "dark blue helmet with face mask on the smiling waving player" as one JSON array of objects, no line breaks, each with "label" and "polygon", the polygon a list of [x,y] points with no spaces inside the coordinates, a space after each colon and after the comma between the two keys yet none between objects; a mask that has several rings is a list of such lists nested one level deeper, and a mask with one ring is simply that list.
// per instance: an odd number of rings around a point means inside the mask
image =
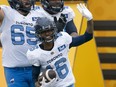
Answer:
[{"label": "dark blue helmet with face mask on the smiling waving player", "polygon": [[36,22],[35,34],[41,42],[54,42],[57,36],[57,28],[53,21],[46,17],[39,18]]}]

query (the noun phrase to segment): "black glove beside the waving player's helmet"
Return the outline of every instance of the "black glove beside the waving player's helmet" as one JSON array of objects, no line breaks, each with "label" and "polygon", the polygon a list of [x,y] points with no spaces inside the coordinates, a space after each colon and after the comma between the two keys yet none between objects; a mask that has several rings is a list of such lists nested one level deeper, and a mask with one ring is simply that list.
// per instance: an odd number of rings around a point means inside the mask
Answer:
[{"label": "black glove beside the waving player's helmet", "polygon": [[56,24],[56,27],[58,29],[58,32],[63,31],[65,25],[66,25],[66,17],[64,14],[61,14],[59,20],[57,20],[56,17],[54,17],[54,22]]}]

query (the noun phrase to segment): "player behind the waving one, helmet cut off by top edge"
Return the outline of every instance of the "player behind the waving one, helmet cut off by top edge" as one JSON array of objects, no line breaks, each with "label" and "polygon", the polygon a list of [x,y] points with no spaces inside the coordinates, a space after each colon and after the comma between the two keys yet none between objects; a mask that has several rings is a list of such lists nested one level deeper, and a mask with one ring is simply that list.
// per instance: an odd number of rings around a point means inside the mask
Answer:
[{"label": "player behind the waving one, helmet cut off by top edge", "polygon": [[[77,36],[77,28],[74,24],[73,18],[75,17],[74,11],[69,6],[64,6],[64,0],[40,0],[43,10],[43,16],[49,17],[52,20],[59,20],[62,16],[66,18],[66,25],[63,31],[66,31],[71,36]],[[62,28],[58,28],[58,32],[62,31]]]}]

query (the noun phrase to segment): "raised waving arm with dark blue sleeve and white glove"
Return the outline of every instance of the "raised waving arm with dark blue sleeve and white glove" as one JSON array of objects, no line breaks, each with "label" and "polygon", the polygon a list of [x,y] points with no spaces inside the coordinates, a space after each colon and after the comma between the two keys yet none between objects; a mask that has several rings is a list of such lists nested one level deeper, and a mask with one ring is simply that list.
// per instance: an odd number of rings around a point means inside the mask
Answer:
[{"label": "raised waving arm with dark blue sleeve and white glove", "polygon": [[85,31],[85,34],[78,37],[72,37],[70,47],[79,46],[93,38],[93,16],[91,12],[86,8],[84,4],[78,4],[77,9],[82,14],[82,16],[87,19],[87,29]]}]

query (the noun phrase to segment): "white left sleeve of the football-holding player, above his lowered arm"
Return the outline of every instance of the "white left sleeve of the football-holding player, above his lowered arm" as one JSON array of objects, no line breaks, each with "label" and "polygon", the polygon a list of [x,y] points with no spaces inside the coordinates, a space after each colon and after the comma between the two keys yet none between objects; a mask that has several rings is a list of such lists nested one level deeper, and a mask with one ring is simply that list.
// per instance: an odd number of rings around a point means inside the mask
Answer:
[{"label": "white left sleeve of the football-holding player, above his lowered arm", "polygon": [[36,54],[37,52],[34,51],[27,51],[27,58],[30,62],[30,64],[34,65],[34,66],[40,66],[40,61],[37,59],[38,55]]}]

